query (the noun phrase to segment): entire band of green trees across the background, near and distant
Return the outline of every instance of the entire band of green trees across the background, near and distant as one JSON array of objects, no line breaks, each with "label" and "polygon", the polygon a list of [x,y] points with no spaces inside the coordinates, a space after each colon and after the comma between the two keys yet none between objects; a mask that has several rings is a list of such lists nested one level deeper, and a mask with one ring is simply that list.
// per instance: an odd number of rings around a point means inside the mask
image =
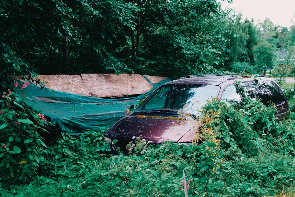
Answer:
[{"label": "entire band of green trees across the background, near and distant", "polygon": [[0,75],[263,74],[295,40],[294,25],[255,26],[216,0],[3,0],[0,25]]}]

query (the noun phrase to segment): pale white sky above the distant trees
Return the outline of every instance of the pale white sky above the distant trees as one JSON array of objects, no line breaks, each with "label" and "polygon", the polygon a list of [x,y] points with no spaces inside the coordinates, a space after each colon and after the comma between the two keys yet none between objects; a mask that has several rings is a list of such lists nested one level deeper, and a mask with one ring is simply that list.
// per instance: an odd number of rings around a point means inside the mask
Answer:
[{"label": "pale white sky above the distant trees", "polygon": [[232,0],[229,4],[222,1],[222,8],[233,8],[236,13],[242,13],[243,19],[253,18],[256,25],[258,20],[268,17],[274,25],[291,27],[291,19],[295,14],[295,0]]}]

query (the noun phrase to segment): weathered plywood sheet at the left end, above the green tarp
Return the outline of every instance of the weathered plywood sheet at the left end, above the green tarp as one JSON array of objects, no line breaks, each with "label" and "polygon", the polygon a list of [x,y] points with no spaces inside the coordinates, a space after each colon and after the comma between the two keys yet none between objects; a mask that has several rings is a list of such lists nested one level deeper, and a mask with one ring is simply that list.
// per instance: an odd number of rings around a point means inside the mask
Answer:
[{"label": "weathered plywood sheet at the left end, above the green tarp", "polygon": [[91,96],[80,75],[39,75],[40,82],[46,82],[45,87],[60,92]]}]

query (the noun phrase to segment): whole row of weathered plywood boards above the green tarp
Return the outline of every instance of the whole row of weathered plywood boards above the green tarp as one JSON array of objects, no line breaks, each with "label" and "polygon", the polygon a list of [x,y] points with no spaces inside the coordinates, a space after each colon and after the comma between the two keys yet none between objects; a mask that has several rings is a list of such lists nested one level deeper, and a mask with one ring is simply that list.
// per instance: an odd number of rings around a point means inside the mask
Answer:
[{"label": "whole row of weathered plywood boards above the green tarp", "polygon": [[[19,77],[15,78],[20,80]],[[140,74],[60,74],[39,75],[38,79],[40,82],[45,82],[45,87],[48,89],[102,98],[140,95],[151,90],[153,84],[167,77]]]}]

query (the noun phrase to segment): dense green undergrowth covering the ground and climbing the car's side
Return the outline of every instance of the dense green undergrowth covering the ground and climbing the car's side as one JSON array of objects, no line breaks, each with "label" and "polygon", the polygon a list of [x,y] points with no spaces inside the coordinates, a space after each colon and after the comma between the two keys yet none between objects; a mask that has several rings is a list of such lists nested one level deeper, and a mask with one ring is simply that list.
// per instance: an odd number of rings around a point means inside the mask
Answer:
[{"label": "dense green undergrowth covering the ground and climbing the car's side", "polygon": [[[201,137],[202,143],[155,145],[137,139],[136,154],[127,156],[109,155],[103,131],[88,131],[79,136],[63,134],[47,148],[34,139],[32,147],[38,160],[27,157],[26,164],[14,165],[17,168],[14,174],[23,173],[26,177],[21,179],[9,174],[10,166],[2,165],[0,194],[130,197],[186,196],[185,192],[187,196],[212,197],[292,194],[295,121],[291,118],[279,122],[275,111],[273,106],[266,107],[253,100],[245,100],[241,107],[211,100],[201,116],[202,134],[196,136]],[[34,127],[30,131],[27,132],[34,133]],[[35,137],[40,139],[36,134]],[[3,150],[1,162],[7,155],[17,155]],[[31,149],[25,150],[19,155],[28,156],[30,152]],[[27,174],[23,172],[24,165]]]}]

